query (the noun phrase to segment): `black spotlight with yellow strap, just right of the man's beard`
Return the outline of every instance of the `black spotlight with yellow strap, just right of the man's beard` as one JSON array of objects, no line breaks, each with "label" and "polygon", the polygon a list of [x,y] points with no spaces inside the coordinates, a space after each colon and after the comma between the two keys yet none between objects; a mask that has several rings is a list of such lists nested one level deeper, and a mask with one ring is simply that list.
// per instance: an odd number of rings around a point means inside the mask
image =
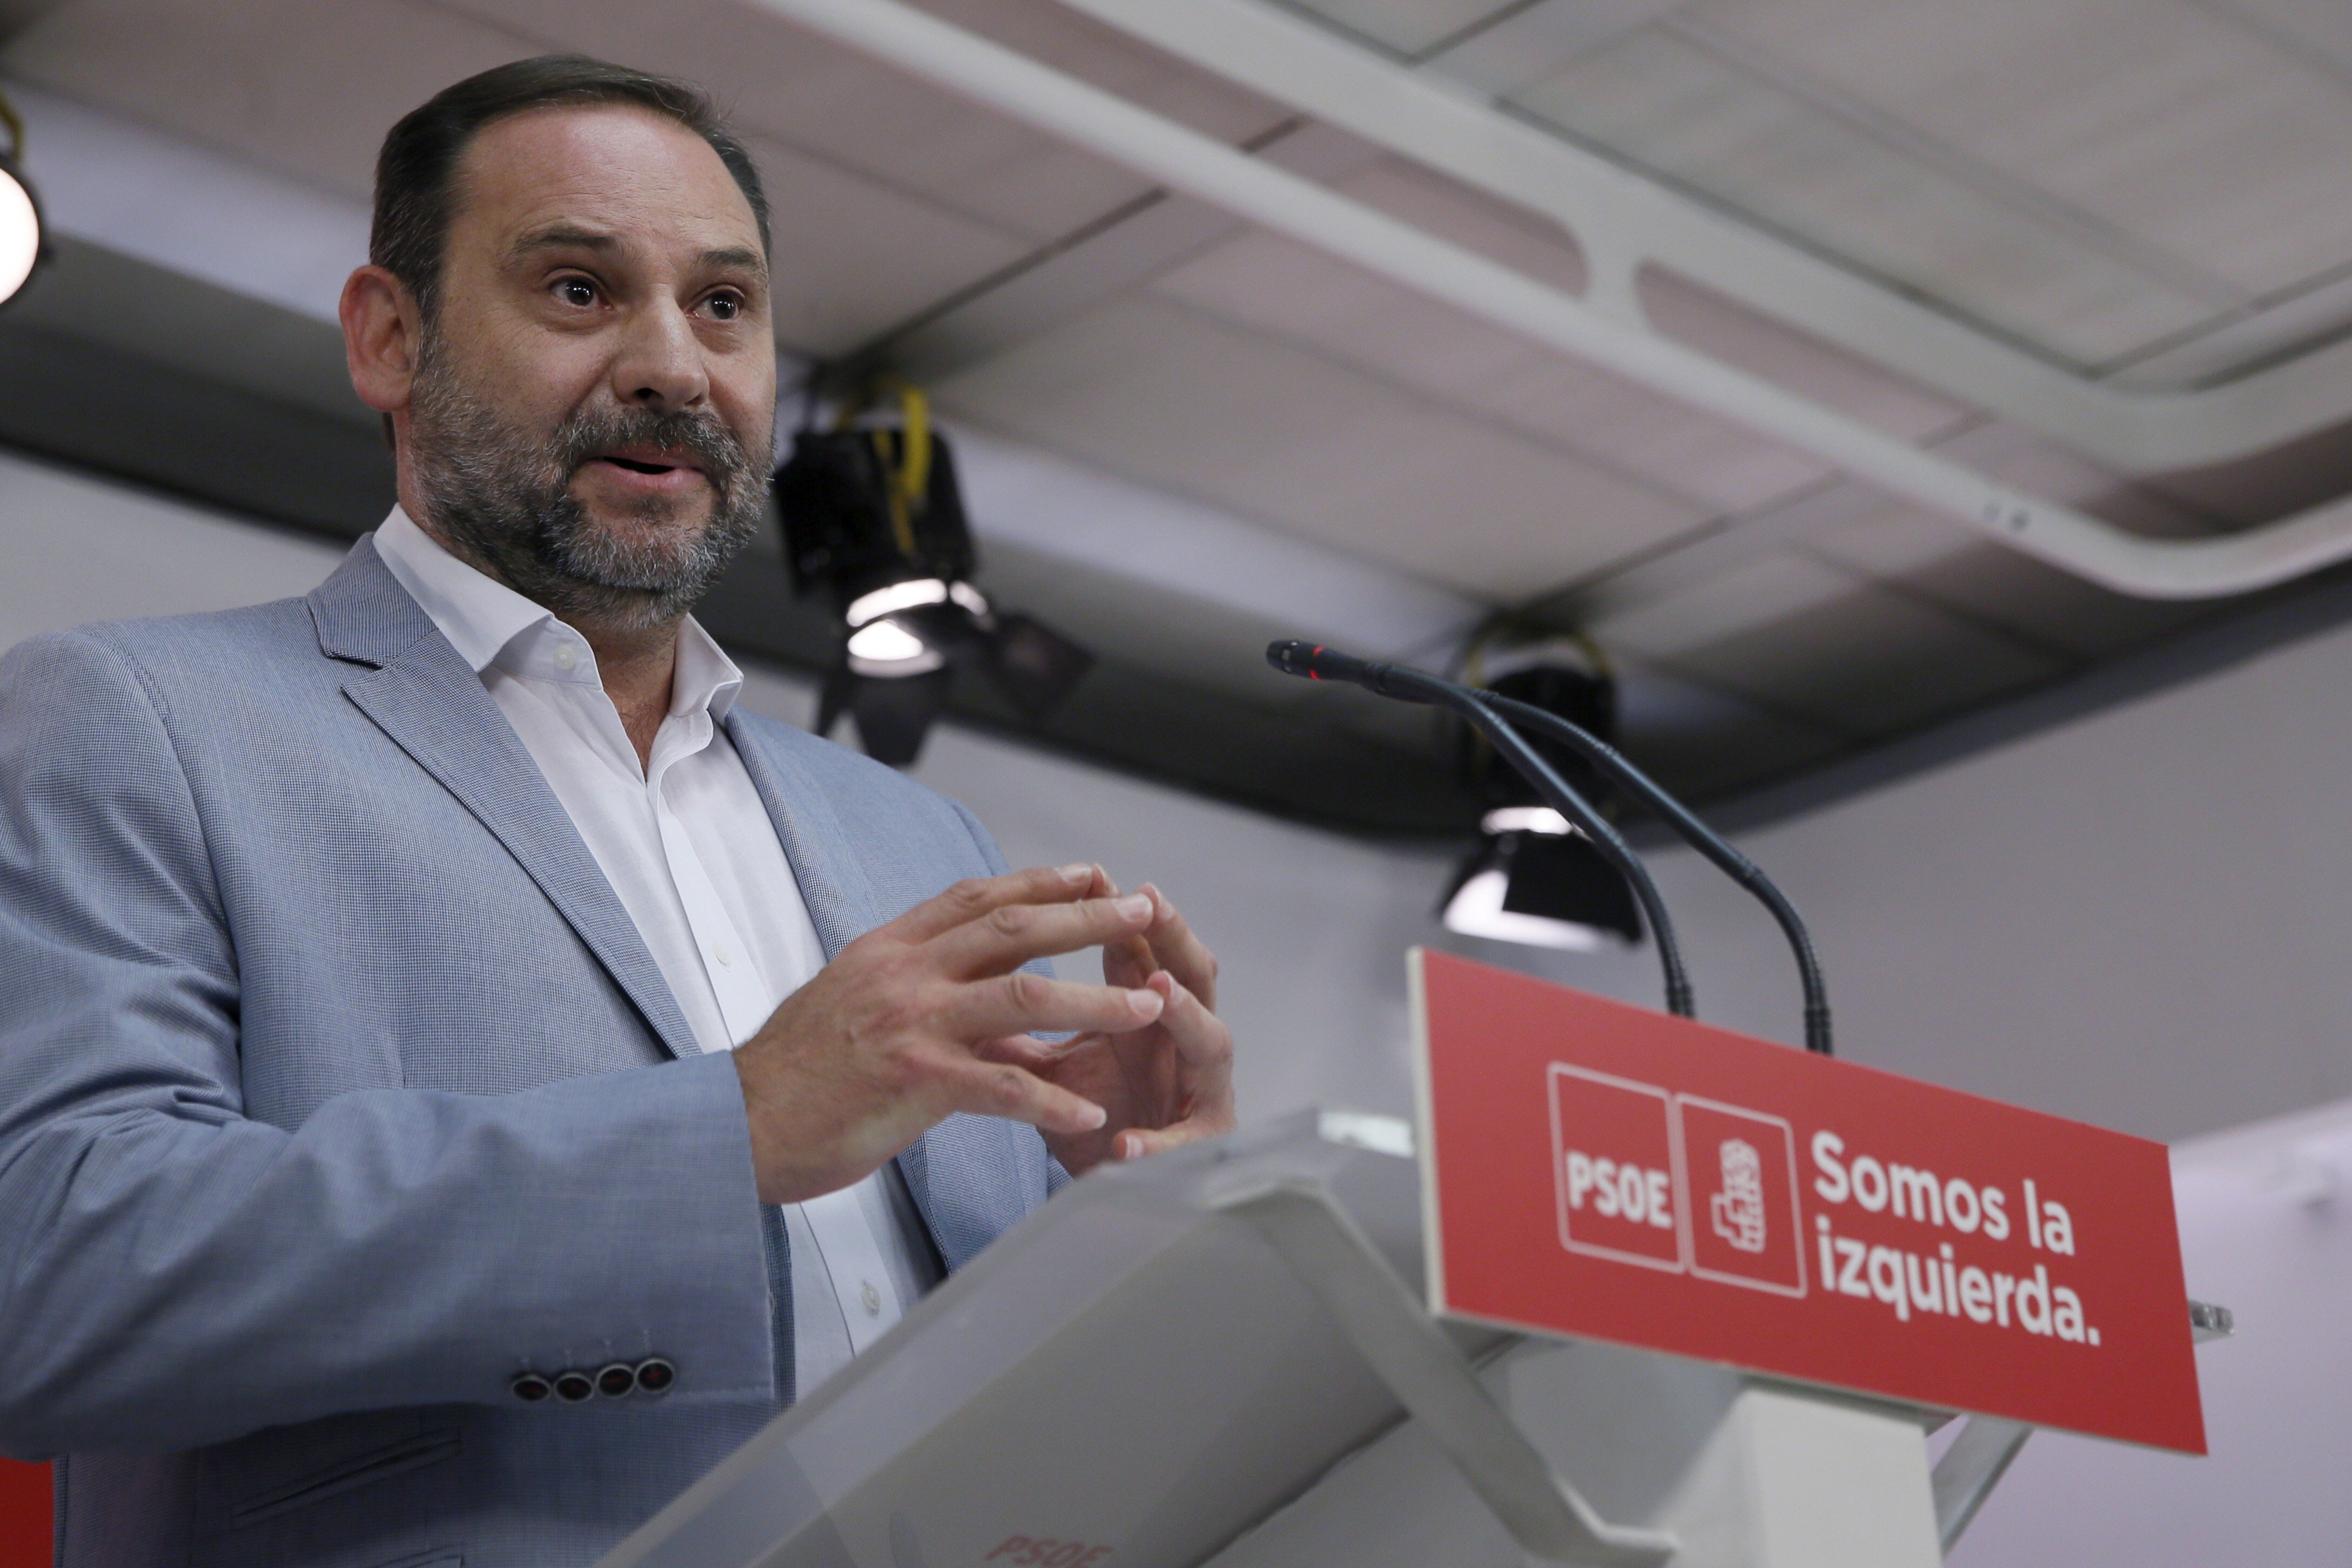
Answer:
[{"label": "black spotlight with yellow strap, just right of the man's beard", "polygon": [[978,550],[955,454],[910,386],[898,388],[894,418],[802,425],[776,470],[776,510],[793,592],[830,592],[842,618],[818,733],[847,712],[866,752],[903,769],[957,665],[976,665],[1033,724],[1094,665],[1030,616],[997,614],[971,585]]}]

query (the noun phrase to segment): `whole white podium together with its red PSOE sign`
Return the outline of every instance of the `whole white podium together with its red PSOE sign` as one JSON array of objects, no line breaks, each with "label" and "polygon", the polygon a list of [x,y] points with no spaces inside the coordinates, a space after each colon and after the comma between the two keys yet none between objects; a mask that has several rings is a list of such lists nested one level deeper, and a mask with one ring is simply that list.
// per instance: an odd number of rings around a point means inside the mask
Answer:
[{"label": "whole white podium together with its red PSOE sign", "polygon": [[[2178,1246],[2164,1244],[2166,1276],[2164,1246],[2143,1237],[2133,1253],[2093,1229],[2093,1215],[2103,1215],[2098,1140],[2114,1135],[2077,1128],[2093,1154],[2072,1168],[2051,1164],[2044,1145],[2063,1140],[2042,1126],[2049,1119],[2034,1119],[2023,1140],[2044,1161],[2034,1166],[2039,1194],[2056,1180],[2070,1182],[2063,1190],[2082,1211],[2084,1232],[2117,1253],[2105,1265],[2126,1286],[2103,1291],[2086,1272],[2063,1274],[2082,1286],[2093,1324],[2107,1328],[2103,1354],[2093,1354],[2096,1328],[2077,1342],[2060,1342],[2049,1328],[2030,1338],[2009,1321],[2006,1295],[1999,1326],[1990,1312],[1971,1321],[1957,1300],[1926,1324],[1912,1316],[1912,1305],[1929,1312],[1924,1298],[1905,1298],[1898,1333],[1884,1295],[1839,1293],[1851,1281],[1818,1272],[1804,1279],[1816,1225],[1820,1255],[1835,1260],[1832,1211],[1846,1229],[1872,1215],[1849,1213],[1851,1204],[1839,1208],[1835,1187],[1820,1178],[1806,1220],[1795,1150],[1811,1135],[1818,1161],[1828,1145],[1818,1143],[1825,1133],[1804,1131],[1811,1112],[1790,1095],[1811,1095],[1813,1110],[1835,1105],[1849,1128],[1867,1128],[1860,1117],[1870,1095],[1889,1093],[1900,1100],[1903,1126],[1915,1131],[1919,1107],[1938,1095],[1962,1103],[1959,1124],[1971,1135],[1997,1133],[1999,1119],[2030,1112],[1632,1009],[1595,1013],[1616,1004],[1557,987],[1526,992],[1536,983],[1489,980],[1501,971],[1472,973],[1477,966],[1451,959],[1442,978],[1454,1001],[1432,1001],[1423,966],[1435,961],[1416,959],[1418,1126],[1312,1112],[1089,1173],[630,1535],[602,1568],[1931,1568],[2034,1420],[2093,1432],[2107,1422],[2110,1436],[2201,1448],[2190,1324],[2180,1321],[2185,1298],[2119,1300],[2119,1291],[2145,1281],[2154,1281],[2147,1288],[2159,1298],[2178,1293]],[[1505,1001],[1534,1009],[1534,1025],[1519,1027],[1508,1009],[1489,1009],[1491,985],[1505,987]],[[1479,1006],[1463,1013],[1463,997]],[[1456,1051],[1451,1067],[1439,1048],[1451,1030],[1446,1018],[1475,1023],[1458,1032],[1470,1048]],[[1564,1018],[1583,1032],[1562,1032]],[[1592,1048],[1651,1063],[1656,1077],[1748,1063],[1743,1105],[1780,1095],[1790,1117],[1559,1060],[1590,1058]],[[1679,1067],[1677,1051],[1689,1058]],[[1797,1074],[1795,1088],[1769,1081],[1788,1072]],[[1571,1084],[1562,1074],[1583,1079]],[[1849,1084],[1849,1074],[1860,1079]],[[1623,1182],[1628,1204],[1639,1206],[1644,1190],[1665,1204],[1649,1215],[1670,1220],[1653,1225],[1653,1258],[1628,1251],[1649,1246],[1646,1232],[1613,1246],[1616,1232],[1592,1211],[1571,1215],[1571,1204],[1585,1201],[1576,1161],[1585,1159],[1590,1171],[1583,1145],[1592,1138],[1578,1143],[1576,1103],[1562,1098],[1562,1086],[1585,1081],[1609,1093],[1653,1093],[1658,1114],[1684,1117],[1689,1103],[1686,1126],[1661,1124],[1672,1138],[1672,1171],[1642,1168],[1642,1180]],[[1858,1098],[1839,1100],[1823,1084],[1844,1084]],[[1534,1100],[1482,1103],[1496,1086],[1522,1098],[1548,1095],[1550,1110]],[[1606,1135],[1639,1135],[1639,1112],[1597,1105],[1609,1112]],[[1771,1197],[1778,1154],[1762,1133],[1738,1140],[1745,1150],[1738,1161],[1726,1152],[1726,1187],[1712,1199],[1700,1161],[1684,1159],[1689,1140],[1710,1126],[1703,1117],[1726,1114],[1776,1121],[1790,1133],[1785,1208],[1771,1206],[1783,1204]],[[1491,1164],[1486,1145],[1524,1157],[1531,1180],[1489,1180],[1477,1164]],[[1444,1180],[1442,1150],[1454,1166]],[[1635,1161],[1628,1152],[1623,1171],[1635,1171]],[[2122,1164],[2133,1161],[2136,1192],[2145,1197],[2145,1159],[2124,1150]],[[1606,1159],[1602,1166],[1621,1168]],[[1837,1168],[1860,1178],[1867,1211],[1865,1159]],[[1472,1173],[1470,1187],[1461,1171]],[[2161,1180],[2161,1150],[2154,1171]],[[1548,1185],[1555,1180],[1557,1192]],[[1526,1192],[1510,1192],[1512,1182]],[[1983,1192],[1994,1190],[1987,1182]],[[2032,1185],[2023,1192],[2037,1194]],[[1736,1227],[1726,1227],[1726,1194],[1755,1208],[1733,1213]],[[1489,1211],[1501,1229],[1470,1237]],[[1710,1272],[1705,1248],[1693,1251],[1693,1220],[1708,1225],[1710,1211],[1731,1246],[1771,1227],[1776,1237],[1799,1237],[1788,1244],[1797,1288]],[[2161,1211],[2169,1227],[2169,1185]],[[1983,1241],[1973,1227],[1964,1239]],[[2011,1237],[2006,1225],[1997,1239],[2025,1248],[2025,1237]],[[2044,1234],[2037,1220],[2032,1244],[2044,1241],[2056,1244],[2056,1234]],[[1470,1267],[1479,1246],[1489,1262],[1494,1246],[1503,1248],[1496,1276],[1505,1284],[1534,1279],[1545,1309],[1557,1302],[1569,1319],[1597,1312],[1606,1331],[1526,1333],[1496,1321],[1494,1307],[1477,1305],[1498,1300],[1479,1295],[1486,1286]],[[1889,1246],[1872,1248],[1879,1251]],[[2070,1258],[2051,1255],[2060,1265]],[[1771,1258],[1759,1251],[1762,1262],[1743,1267],[1769,1272]],[[1952,1246],[1943,1258],[1955,1258]],[[2140,1267],[2136,1258],[2152,1262]],[[2074,1262],[2089,1269],[2093,1260]],[[1442,1276],[1432,1279],[1432,1269]],[[1621,1276],[1625,1288],[1599,1300]],[[2046,1298],[2074,1295],[2051,1284],[2046,1265],[2039,1288]],[[1432,1312],[1432,1302],[1444,1312]],[[1489,1321],[1475,1321],[1482,1314]],[[1644,1314],[1658,1319],[1656,1335]],[[1780,1340],[1748,1356],[1750,1371],[1740,1371],[1743,1354],[1661,1354],[1658,1347],[1712,1345],[1719,1314],[1778,1324],[1771,1333]],[[2018,1316],[2027,1321],[2025,1295]],[[1806,1340],[1820,1324],[1828,1333]],[[1875,1338],[1884,1340],[1882,1352],[1893,1347],[1884,1366],[1931,1363],[1917,1387],[1973,1392],[1966,1378],[1950,1382],[1950,1356],[1936,1352],[1945,1340],[1922,1340],[1929,1331],[1976,1333],[1990,1347],[1971,1352],[1990,1356],[1969,1373],[1980,1375],[1983,1401],[1938,1406],[1917,1389],[1915,1396],[1856,1392],[1867,1368],[1879,1366],[1867,1359]],[[1853,1378],[1820,1371],[1839,1366],[1849,1342],[1865,1352],[1856,1361],[1865,1371]],[[2079,1389],[2051,1392],[2070,1375],[2053,1378],[2049,1368],[2067,1363],[2051,1356],[2091,1366],[2077,1375]],[[1773,1375],[1788,1371],[1776,1359],[1797,1366],[1797,1375]],[[2138,1399],[2140,1382],[2161,1385],[2164,1399]],[[2004,1401],[2020,1399],[2034,1408],[2032,1420],[1999,1415]],[[2089,1413],[2074,1418],[2070,1399]],[[1997,1415],[1955,1418],[1962,1406]],[[1966,1425],[1931,1465],[1929,1434],[1947,1420]]]}]

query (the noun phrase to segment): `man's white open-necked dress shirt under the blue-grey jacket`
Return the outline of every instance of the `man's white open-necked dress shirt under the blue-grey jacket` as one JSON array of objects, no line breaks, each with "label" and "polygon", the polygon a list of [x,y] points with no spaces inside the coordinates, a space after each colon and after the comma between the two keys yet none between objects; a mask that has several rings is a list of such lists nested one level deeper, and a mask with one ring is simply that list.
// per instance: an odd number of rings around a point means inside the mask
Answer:
[{"label": "man's white open-necked dress shirt under the blue-grey jacket", "polygon": [[[376,555],[515,726],[677,997],[694,1044],[731,1051],[826,964],[809,905],[720,719],[743,672],[694,618],[677,628],[670,712],[640,766],[588,639],[449,555],[393,508]],[[793,1385],[807,1394],[873,1345],[938,1267],[889,1166],[783,1211]]]}]

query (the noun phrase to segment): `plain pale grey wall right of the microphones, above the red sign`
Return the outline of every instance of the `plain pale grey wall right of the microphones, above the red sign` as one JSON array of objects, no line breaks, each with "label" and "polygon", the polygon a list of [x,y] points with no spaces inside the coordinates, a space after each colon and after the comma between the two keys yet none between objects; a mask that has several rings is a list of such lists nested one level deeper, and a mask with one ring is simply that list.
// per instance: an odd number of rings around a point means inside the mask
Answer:
[{"label": "plain pale grey wall right of the microphones, above the red sign", "polygon": [[[2180,1138],[2352,1095],[2347,792],[2333,630],[1743,846],[1813,926],[1844,1056]],[[1661,882],[1700,1013],[1795,1039],[1762,914],[1682,856]]]}]

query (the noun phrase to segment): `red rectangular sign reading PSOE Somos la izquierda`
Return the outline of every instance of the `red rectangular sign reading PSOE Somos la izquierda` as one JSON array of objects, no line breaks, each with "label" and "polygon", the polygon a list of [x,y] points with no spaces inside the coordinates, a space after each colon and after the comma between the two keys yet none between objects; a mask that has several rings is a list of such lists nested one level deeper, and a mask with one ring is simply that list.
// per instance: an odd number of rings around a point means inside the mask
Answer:
[{"label": "red rectangular sign reading PSOE Somos la izquierda", "polygon": [[1437,1312],[2204,1453],[2164,1145],[1411,964]]}]

